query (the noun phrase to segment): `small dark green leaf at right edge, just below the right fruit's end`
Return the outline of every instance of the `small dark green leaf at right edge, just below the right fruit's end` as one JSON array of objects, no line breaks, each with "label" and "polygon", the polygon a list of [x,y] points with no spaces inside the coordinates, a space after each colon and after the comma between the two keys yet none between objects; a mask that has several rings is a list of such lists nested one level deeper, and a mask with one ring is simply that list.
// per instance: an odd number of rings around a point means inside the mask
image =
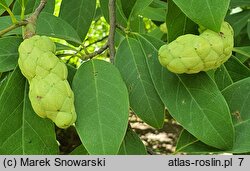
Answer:
[{"label": "small dark green leaf at right edge, just below the right fruit's end", "polygon": [[242,64],[240,60],[234,56],[231,56],[224,65],[234,82],[250,76],[249,68]]}]

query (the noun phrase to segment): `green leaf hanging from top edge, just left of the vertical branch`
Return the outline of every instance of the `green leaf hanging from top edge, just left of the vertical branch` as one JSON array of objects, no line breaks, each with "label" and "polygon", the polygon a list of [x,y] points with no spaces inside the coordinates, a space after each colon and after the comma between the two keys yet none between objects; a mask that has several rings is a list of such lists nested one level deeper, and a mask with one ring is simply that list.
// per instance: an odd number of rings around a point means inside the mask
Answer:
[{"label": "green leaf hanging from top edge, just left of the vertical branch", "polygon": [[59,16],[77,31],[81,40],[84,40],[95,11],[96,0],[63,0]]}]

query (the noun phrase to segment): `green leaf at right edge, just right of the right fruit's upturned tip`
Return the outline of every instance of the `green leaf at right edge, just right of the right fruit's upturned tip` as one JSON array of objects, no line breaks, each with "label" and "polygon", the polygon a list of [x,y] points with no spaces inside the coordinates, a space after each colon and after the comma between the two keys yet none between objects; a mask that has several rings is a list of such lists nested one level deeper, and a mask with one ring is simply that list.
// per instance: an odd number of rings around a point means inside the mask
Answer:
[{"label": "green leaf at right edge, just right of the right fruit's upturned tip", "polygon": [[238,36],[241,30],[247,25],[250,18],[250,10],[242,11],[233,15],[228,15],[226,20],[233,27],[234,35]]}]

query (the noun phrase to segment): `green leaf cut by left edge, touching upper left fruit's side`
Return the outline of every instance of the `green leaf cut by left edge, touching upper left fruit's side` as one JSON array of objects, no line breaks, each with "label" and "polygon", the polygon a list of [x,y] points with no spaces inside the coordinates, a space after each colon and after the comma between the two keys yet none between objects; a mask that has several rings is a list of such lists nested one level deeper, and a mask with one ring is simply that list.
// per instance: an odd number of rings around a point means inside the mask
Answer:
[{"label": "green leaf cut by left edge, touching upper left fruit's side", "polygon": [[22,40],[17,37],[0,38],[0,72],[10,71],[16,67],[18,47]]}]

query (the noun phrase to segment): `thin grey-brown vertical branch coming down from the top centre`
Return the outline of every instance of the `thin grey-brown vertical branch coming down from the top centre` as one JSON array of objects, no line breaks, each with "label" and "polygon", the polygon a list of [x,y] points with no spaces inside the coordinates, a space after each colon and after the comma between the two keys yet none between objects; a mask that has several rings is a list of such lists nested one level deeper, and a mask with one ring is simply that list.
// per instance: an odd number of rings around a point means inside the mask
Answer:
[{"label": "thin grey-brown vertical branch coming down from the top centre", "polygon": [[115,58],[115,28],[116,28],[116,0],[109,0],[109,37],[108,45],[110,51],[110,62],[114,63]]}]

